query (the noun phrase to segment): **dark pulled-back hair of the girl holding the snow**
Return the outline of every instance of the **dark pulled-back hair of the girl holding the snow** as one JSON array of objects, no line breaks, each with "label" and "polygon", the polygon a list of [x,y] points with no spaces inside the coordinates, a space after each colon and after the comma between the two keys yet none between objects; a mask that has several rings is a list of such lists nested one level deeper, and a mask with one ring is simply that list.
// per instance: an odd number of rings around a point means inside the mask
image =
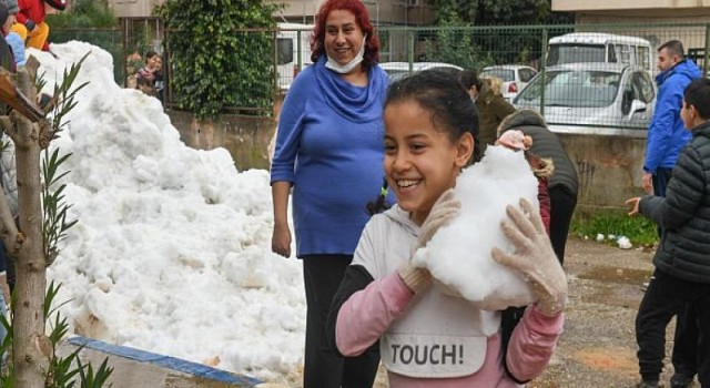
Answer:
[{"label": "dark pulled-back hair of the girl holding the snow", "polygon": [[438,70],[425,70],[404,78],[389,85],[385,108],[396,102],[415,101],[432,114],[435,127],[447,131],[453,142],[470,132],[474,136],[473,160],[478,162],[483,156],[478,146],[478,111],[459,78]]}]

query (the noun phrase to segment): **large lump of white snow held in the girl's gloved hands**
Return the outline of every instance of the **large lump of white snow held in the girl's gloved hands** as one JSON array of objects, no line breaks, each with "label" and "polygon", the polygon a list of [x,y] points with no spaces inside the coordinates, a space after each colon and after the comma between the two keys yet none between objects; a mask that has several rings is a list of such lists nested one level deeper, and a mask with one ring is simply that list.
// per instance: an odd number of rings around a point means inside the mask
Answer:
[{"label": "large lump of white snow held in the girl's gloved hands", "polygon": [[487,309],[504,309],[532,303],[534,296],[523,276],[490,256],[494,246],[513,252],[513,244],[500,229],[506,206],[520,197],[539,208],[538,182],[521,152],[488,146],[484,159],[462,172],[455,195],[460,214],[440,228],[413,258],[438,283]]}]

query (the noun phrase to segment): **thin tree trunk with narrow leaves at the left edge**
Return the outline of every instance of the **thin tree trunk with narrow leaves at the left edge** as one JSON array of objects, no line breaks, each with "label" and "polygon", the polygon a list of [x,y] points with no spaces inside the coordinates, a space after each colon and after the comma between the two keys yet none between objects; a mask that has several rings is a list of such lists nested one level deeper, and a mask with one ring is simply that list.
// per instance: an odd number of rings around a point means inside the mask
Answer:
[{"label": "thin tree trunk with narrow leaves at the left edge", "polygon": [[64,71],[61,85],[54,86],[43,109],[34,103],[42,83],[37,78],[39,62],[34,58],[17,74],[0,69],[0,101],[11,108],[9,115],[0,116],[0,129],[14,143],[20,225],[18,228],[6,196],[0,195],[0,234],[17,265],[12,300],[14,387],[42,388],[52,379],[48,375],[54,354],[44,333],[47,266],[57,257],[57,243],[75,221],[67,219],[64,186],[58,183],[63,176],[57,175],[58,165],[65,156],[59,157],[57,151],[50,155],[48,147],[65,124],[63,118],[74,106],[75,93],[85,85],[70,91],[81,62],[83,59]]}]

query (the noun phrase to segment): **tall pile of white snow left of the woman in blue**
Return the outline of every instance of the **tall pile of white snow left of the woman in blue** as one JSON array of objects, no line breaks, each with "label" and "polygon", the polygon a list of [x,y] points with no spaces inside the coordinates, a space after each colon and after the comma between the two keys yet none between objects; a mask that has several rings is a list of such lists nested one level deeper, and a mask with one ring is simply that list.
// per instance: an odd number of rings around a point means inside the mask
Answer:
[{"label": "tall pile of white snow left of the woman in blue", "polygon": [[301,263],[271,253],[268,172],[180,141],[161,103],[113,81],[111,55],[82,42],[37,50],[45,91],[87,52],[70,122],[52,149],[70,218],[48,278],[75,334],[276,379],[303,357]]}]

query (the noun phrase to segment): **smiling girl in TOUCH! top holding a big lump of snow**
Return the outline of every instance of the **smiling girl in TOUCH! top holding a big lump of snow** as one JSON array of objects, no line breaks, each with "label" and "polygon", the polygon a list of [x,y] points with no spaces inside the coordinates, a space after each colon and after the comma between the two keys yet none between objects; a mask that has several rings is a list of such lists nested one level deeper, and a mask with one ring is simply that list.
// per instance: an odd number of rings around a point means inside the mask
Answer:
[{"label": "smiling girl in TOUCH! top holding a big lump of snow", "polygon": [[466,90],[444,72],[419,72],[387,93],[384,165],[397,204],[365,226],[333,299],[327,335],[346,357],[379,341],[392,388],[519,387],[516,380],[545,369],[562,330],[567,282],[527,201],[508,206],[501,225],[490,225],[516,247],[513,254],[494,248],[493,258],[527,276],[537,298],[503,360],[511,376],[501,363],[500,312],[443,294],[426,269],[409,263],[458,213],[452,188],[477,152],[474,114]]}]

